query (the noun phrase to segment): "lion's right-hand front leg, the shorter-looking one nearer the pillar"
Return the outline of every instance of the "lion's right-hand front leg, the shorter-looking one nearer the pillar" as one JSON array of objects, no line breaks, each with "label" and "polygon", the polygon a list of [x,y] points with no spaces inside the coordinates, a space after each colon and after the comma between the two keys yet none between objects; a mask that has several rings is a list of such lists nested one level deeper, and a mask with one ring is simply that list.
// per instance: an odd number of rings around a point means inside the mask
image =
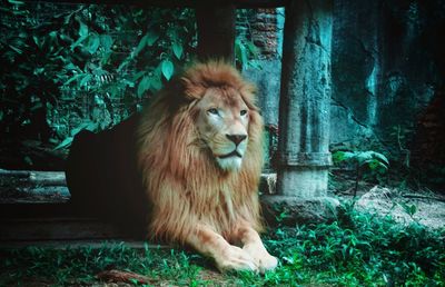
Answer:
[{"label": "lion's right-hand front leg, the shorter-looking one nearer the pillar", "polygon": [[266,250],[258,232],[248,224],[240,225],[235,236],[243,243],[243,250],[246,250],[255,259],[260,273],[273,270],[277,267],[278,259]]}]

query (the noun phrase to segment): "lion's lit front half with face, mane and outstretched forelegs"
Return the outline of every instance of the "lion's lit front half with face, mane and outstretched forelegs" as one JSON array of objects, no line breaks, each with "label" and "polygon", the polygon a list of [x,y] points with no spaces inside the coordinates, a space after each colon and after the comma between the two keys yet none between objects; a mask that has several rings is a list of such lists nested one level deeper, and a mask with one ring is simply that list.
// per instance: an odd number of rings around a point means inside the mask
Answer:
[{"label": "lion's lit front half with face, mane and outstretched forelegs", "polygon": [[263,119],[254,92],[230,65],[196,63],[157,95],[136,131],[149,234],[192,247],[221,271],[278,263],[258,235]]}]

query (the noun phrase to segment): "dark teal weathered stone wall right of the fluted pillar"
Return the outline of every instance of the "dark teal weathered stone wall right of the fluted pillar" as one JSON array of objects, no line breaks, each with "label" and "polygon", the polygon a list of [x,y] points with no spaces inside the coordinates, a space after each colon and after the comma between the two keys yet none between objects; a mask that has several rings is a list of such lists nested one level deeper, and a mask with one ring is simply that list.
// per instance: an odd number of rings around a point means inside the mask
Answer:
[{"label": "dark teal weathered stone wall right of the fluted pillar", "polygon": [[332,142],[377,146],[445,188],[445,2],[340,0],[334,13]]}]

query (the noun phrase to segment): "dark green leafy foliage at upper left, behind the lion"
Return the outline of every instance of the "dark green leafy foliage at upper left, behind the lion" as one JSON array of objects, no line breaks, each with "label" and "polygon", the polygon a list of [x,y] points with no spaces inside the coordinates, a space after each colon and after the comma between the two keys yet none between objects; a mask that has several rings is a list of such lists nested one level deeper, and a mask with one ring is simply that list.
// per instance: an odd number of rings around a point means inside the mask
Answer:
[{"label": "dark green leafy foliage at upper left, behind the lion", "polygon": [[[0,78],[0,128],[14,137],[31,128],[58,148],[81,128],[105,129],[132,113],[196,46],[189,9],[10,0],[0,12],[0,59],[9,71]],[[51,130],[58,125],[69,130]]]}]

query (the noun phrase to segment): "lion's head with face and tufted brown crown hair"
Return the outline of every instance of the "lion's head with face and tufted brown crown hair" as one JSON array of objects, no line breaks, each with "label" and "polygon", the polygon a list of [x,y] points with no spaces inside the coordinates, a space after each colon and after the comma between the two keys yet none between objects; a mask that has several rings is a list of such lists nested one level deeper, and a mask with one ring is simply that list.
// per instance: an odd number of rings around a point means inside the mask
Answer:
[{"label": "lion's head with face and tufted brown crown hair", "polygon": [[249,145],[250,121],[260,120],[254,86],[221,62],[197,65],[181,77],[188,98],[196,100],[198,137],[222,170],[239,171]]}]

